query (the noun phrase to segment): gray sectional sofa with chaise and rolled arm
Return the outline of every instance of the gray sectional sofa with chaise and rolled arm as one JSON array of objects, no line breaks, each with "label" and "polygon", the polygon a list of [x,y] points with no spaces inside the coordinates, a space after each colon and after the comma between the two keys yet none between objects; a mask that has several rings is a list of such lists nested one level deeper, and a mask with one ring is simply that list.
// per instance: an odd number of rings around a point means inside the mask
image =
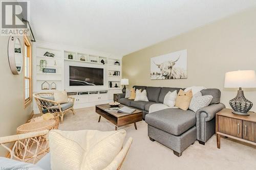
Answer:
[{"label": "gray sectional sofa with chaise and rolled arm", "polygon": [[177,90],[178,92],[182,88],[133,87],[141,90],[146,89],[149,102],[129,100],[124,98],[125,94],[118,95],[118,102],[143,110],[143,119],[148,124],[150,139],[172,149],[175,155],[181,156],[182,152],[190,144],[194,144],[196,140],[204,144],[215,134],[215,114],[225,108],[225,105],[220,103],[221,92],[219,89],[201,90],[202,95],[212,95],[213,99],[209,106],[198,110],[197,113],[191,110],[168,108],[148,114],[152,104],[163,103],[164,96],[168,91]]}]

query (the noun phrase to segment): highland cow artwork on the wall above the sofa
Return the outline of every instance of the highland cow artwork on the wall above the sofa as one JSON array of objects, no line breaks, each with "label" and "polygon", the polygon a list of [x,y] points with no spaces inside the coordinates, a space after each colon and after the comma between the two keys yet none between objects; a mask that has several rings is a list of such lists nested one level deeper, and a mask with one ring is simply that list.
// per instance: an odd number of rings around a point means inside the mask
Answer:
[{"label": "highland cow artwork on the wall above the sofa", "polygon": [[186,79],[187,50],[151,58],[151,80]]}]

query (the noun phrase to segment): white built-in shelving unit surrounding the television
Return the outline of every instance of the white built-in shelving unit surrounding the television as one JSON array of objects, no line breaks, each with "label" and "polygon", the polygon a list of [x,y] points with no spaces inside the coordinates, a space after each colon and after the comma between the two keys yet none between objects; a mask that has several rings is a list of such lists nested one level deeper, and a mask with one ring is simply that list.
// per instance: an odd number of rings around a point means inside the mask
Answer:
[{"label": "white built-in shelving unit surrounding the television", "polygon": [[[54,57],[44,56],[46,52],[53,53]],[[69,58],[72,54],[72,59]],[[41,68],[55,69],[55,73],[45,73],[40,69],[40,61],[47,64]],[[101,63],[104,61],[104,64]],[[41,61],[42,62],[42,61]],[[117,62],[119,65],[116,65]],[[84,67],[104,68],[103,86],[69,86],[69,72],[67,65],[79,65]],[[49,92],[51,84],[56,84],[57,90],[67,90],[75,98],[75,108],[94,106],[113,101],[113,94],[121,92],[121,57],[108,53],[96,52],[79,47],[70,47],[47,42],[35,42],[33,44],[33,92]],[[42,83],[50,84],[49,89],[42,89]],[[112,82],[112,87],[110,87]],[[118,88],[114,87],[117,84]],[[79,93],[80,92],[80,93]],[[82,92],[82,93],[81,93]],[[38,108],[34,103],[34,111]]]}]

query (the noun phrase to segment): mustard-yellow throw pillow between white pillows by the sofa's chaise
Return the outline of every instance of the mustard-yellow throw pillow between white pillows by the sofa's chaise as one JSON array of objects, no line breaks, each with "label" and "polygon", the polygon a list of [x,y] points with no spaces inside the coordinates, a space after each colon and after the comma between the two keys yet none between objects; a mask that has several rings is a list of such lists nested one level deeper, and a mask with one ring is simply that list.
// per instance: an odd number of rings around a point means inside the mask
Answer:
[{"label": "mustard-yellow throw pillow between white pillows by the sofa's chaise", "polygon": [[192,99],[192,96],[192,90],[184,92],[182,89],[180,89],[175,101],[175,106],[182,110],[187,110]]}]

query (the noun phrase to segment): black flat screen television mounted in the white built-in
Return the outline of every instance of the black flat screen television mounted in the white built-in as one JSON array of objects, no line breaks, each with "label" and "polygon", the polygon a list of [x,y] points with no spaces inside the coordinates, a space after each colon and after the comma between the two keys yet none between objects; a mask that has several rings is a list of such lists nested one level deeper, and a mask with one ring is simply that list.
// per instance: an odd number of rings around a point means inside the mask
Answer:
[{"label": "black flat screen television mounted in the white built-in", "polygon": [[70,86],[103,86],[103,68],[69,66]]}]

